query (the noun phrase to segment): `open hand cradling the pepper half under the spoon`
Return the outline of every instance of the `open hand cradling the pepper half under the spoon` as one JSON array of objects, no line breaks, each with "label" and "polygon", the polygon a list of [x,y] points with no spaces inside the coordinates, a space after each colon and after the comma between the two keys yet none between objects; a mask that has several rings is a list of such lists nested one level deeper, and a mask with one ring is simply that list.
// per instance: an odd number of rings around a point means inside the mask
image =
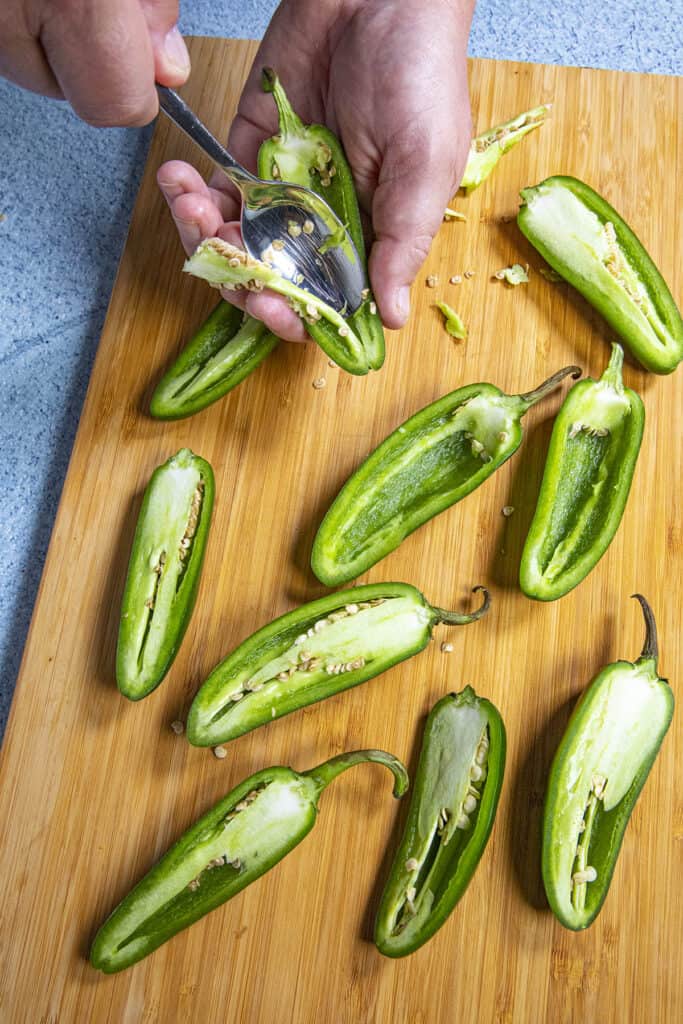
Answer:
[{"label": "open hand cradling the pepper half under the spoon", "polygon": [[[470,139],[466,50],[472,0],[284,0],[259,47],[228,137],[256,166],[276,130],[260,86],[261,68],[280,73],[306,122],[327,124],[344,144],[364,212],[372,220],[371,284],[382,319],[399,328],[409,289],[462,175]],[[219,236],[240,244],[239,205],[222,175],[207,185],[188,164],[170,161],[158,180],[185,250]],[[230,293],[280,337],[307,335],[272,293]]]}]

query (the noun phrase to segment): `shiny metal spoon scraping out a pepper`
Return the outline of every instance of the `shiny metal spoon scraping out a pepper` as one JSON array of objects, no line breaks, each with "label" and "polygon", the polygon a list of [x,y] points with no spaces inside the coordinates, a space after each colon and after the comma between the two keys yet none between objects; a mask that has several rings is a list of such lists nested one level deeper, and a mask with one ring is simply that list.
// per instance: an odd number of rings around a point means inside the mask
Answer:
[{"label": "shiny metal spoon scraping out a pepper", "polygon": [[[159,105],[242,194],[242,239],[254,259],[268,261],[289,281],[339,312],[353,312],[366,287],[362,264],[348,231],[310,188],[264,181],[250,174],[218,142],[177,92],[158,85]],[[272,247],[280,240],[283,243]]]}]

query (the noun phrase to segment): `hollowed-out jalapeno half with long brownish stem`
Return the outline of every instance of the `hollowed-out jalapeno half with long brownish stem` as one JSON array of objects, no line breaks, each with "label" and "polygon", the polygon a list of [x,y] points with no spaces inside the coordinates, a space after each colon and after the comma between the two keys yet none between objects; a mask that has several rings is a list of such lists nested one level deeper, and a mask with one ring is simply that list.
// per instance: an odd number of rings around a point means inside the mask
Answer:
[{"label": "hollowed-out jalapeno half with long brownish stem", "polygon": [[354,580],[483,483],[519,447],[524,413],[568,374],[581,370],[566,367],[526,394],[468,384],[407,420],[349,477],[321,523],[311,553],[317,579],[329,587]]}]

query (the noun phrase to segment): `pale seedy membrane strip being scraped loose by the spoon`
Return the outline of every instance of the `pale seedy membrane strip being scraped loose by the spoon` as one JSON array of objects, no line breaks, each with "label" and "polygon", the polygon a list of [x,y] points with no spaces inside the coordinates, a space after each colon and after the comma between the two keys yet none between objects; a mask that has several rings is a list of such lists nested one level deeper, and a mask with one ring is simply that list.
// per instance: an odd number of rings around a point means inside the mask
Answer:
[{"label": "pale seedy membrane strip being scraped loose by the spoon", "polygon": [[335,362],[351,374],[367,374],[370,364],[360,338],[341,313],[311,292],[283,278],[263,260],[253,259],[244,249],[222,239],[205,239],[197,247],[183,270],[202,278],[213,288],[260,292],[270,288],[290,299],[292,308],[306,322],[326,321],[333,330],[319,333],[316,341]]}]

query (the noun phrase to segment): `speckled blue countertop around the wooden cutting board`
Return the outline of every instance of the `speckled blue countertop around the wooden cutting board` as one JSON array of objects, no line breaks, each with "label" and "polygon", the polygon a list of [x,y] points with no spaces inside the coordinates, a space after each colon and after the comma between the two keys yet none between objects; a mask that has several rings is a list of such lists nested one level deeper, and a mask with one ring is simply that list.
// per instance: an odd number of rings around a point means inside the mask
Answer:
[{"label": "speckled blue countertop around the wooden cutting board", "polygon": [[[181,6],[186,34],[256,38],[276,4]],[[681,75],[681,39],[680,0],[480,0],[470,53]],[[150,136],[0,80],[0,732]]]}]

